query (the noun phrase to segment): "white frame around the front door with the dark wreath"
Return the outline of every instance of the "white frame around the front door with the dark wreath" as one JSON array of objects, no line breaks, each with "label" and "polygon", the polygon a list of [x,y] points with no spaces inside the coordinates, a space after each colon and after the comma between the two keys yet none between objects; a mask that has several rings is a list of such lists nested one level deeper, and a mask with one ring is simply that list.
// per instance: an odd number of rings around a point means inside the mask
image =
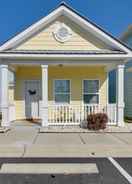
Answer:
[{"label": "white frame around the front door with the dark wreath", "polygon": [[[27,80],[23,80],[23,83],[24,83],[24,90],[23,90],[23,92],[24,92],[24,114],[25,114],[25,119],[27,119],[27,117],[26,117],[26,82],[38,82],[38,83],[40,83],[40,94],[41,94],[41,91],[42,91],[42,85],[41,85],[41,80],[40,79],[27,79]],[[41,101],[41,100],[40,100]],[[40,114],[40,108],[38,109],[39,110],[39,114]],[[40,117],[38,117],[38,118],[40,118]]]}]

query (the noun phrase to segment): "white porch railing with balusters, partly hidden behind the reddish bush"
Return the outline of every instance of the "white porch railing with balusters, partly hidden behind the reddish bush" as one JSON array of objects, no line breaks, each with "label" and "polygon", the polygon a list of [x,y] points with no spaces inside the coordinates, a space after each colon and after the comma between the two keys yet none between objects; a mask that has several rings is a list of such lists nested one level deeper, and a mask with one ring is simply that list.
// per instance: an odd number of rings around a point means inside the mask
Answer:
[{"label": "white porch railing with balusters, partly hidden behind the reddish bush", "polygon": [[109,125],[116,125],[116,104],[101,105],[49,105],[49,125],[79,125],[88,114],[107,113]]}]

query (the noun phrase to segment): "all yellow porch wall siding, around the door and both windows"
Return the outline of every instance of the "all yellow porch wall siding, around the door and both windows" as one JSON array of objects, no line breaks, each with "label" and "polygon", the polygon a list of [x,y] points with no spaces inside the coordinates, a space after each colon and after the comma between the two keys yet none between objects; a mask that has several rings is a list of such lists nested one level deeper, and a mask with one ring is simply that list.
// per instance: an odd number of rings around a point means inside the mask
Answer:
[{"label": "all yellow porch wall siding, around the door and both windows", "polygon": [[[82,80],[100,80],[100,104],[107,101],[106,72],[104,67],[49,67],[49,103],[53,103],[54,79],[71,80],[71,104],[82,103]],[[25,118],[24,111],[24,80],[41,80],[41,68],[19,67],[16,72],[16,119]]]}]

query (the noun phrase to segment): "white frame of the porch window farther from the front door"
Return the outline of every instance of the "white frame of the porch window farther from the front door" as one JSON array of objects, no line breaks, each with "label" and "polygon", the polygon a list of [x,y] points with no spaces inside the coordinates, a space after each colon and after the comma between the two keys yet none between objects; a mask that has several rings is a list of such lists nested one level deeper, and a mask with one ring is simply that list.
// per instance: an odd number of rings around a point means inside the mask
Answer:
[{"label": "white frame of the porch window farther from the front door", "polygon": [[[99,90],[98,93],[84,93],[84,81],[98,81],[99,83]],[[98,95],[98,103],[85,103],[84,102],[84,95]],[[100,80],[99,79],[83,79],[82,80],[82,102],[85,105],[99,105],[100,104]]]}]

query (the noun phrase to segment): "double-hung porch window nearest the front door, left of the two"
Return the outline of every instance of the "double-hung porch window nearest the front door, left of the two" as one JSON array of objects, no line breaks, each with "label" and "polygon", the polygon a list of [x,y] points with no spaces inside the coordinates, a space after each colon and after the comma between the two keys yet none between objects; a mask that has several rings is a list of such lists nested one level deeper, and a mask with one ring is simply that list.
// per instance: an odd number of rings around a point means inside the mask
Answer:
[{"label": "double-hung porch window nearest the front door, left of the two", "polygon": [[70,80],[55,80],[54,98],[56,103],[70,102]]}]

